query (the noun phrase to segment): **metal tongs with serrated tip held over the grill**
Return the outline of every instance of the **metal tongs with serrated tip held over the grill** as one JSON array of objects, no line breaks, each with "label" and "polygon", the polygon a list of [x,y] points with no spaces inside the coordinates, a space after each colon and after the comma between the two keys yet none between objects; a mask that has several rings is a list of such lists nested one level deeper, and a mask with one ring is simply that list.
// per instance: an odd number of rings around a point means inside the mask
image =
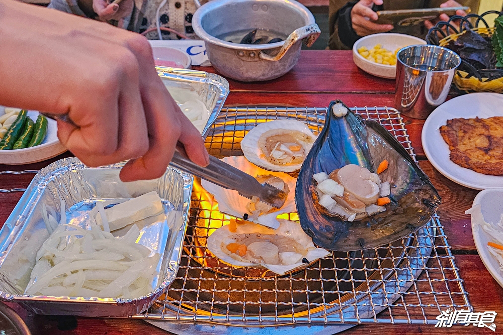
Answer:
[{"label": "metal tongs with serrated tip held over the grill", "polygon": [[189,159],[183,144],[180,142],[177,144],[177,150],[170,164],[223,188],[236,190],[240,195],[248,199],[256,196],[261,201],[276,208],[281,208],[286,200],[287,195],[282,190],[268,183],[261,184],[249,174],[211,155],[210,164],[207,167],[197,165]]}]

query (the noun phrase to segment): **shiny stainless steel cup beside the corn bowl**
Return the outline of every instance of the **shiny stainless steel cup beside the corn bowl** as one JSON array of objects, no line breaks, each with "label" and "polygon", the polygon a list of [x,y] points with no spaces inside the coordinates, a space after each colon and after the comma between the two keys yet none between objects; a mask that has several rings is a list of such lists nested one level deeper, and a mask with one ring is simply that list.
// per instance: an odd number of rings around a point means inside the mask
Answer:
[{"label": "shiny stainless steel cup beside the corn bowl", "polygon": [[436,45],[412,45],[396,54],[395,107],[414,119],[426,119],[449,94],[461,58]]}]

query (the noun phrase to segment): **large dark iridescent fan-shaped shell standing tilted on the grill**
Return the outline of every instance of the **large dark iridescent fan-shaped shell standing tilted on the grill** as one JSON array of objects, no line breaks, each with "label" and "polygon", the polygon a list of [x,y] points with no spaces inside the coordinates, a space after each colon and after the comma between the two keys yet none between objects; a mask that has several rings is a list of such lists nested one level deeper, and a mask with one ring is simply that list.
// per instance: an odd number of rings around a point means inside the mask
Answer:
[{"label": "large dark iridescent fan-shaped shell standing tilted on the grill", "polygon": [[[313,185],[315,173],[330,174],[348,164],[375,172],[385,159],[389,167],[379,177],[391,185],[386,211],[353,222],[323,212]],[[339,100],[328,107],[325,126],[299,172],[297,189],[302,190],[295,195],[302,228],[317,246],[334,251],[374,248],[403,238],[426,225],[441,203],[428,176],[394,136]]]}]

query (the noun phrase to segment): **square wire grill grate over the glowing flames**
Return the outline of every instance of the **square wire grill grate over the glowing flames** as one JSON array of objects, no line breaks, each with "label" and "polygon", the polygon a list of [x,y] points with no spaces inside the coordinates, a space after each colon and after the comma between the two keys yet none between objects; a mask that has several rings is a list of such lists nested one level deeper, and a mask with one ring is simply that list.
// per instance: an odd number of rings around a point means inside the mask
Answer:
[{"label": "square wire grill grate over the glowing flames", "polygon": [[[415,158],[396,109],[354,108],[386,127]],[[314,132],[326,108],[223,108],[206,139],[216,157],[242,155],[240,141],[258,123],[296,119]],[[433,323],[440,310],[471,309],[439,218],[388,246],[333,252],[307,268],[277,276],[222,264],[206,252],[211,230],[228,224],[213,197],[194,184],[180,270],[149,319],[253,326],[292,323]],[[295,213],[285,214],[292,220]]]}]

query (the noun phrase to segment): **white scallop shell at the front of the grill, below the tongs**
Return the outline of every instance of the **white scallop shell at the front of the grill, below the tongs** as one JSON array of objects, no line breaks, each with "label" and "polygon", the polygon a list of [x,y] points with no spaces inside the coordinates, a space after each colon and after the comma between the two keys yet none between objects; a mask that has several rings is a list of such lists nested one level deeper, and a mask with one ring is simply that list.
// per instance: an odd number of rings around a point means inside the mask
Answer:
[{"label": "white scallop shell at the front of the grill, below the tongs", "polygon": [[[300,245],[305,247],[307,253],[305,258],[308,262],[312,262],[318,258],[327,257],[330,255],[328,251],[321,248],[316,248],[313,244],[312,239],[302,231],[302,228],[297,222],[289,221],[285,219],[279,219],[279,227],[276,230],[269,229],[267,227],[253,224],[251,222],[246,222],[244,224],[238,224],[236,226],[236,232],[231,233],[229,231],[229,226],[223,226],[217,230],[215,230],[208,238],[206,243],[206,247],[208,250],[218,257],[222,262],[231,264],[239,267],[248,267],[248,268],[266,268],[268,270],[273,271],[279,275],[284,275],[293,270],[302,268],[307,266],[309,263],[303,263],[302,260],[294,263],[292,265],[273,265],[273,264],[257,264],[251,263],[245,259],[236,260],[235,258],[229,256],[224,248],[227,246],[227,242],[234,242],[235,239],[232,236],[238,234],[264,234],[264,235],[280,235],[289,237],[295,241],[297,241]],[[238,242],[238,241],[237,241]],[[240,258],[235,255],[236,258]]]}]

